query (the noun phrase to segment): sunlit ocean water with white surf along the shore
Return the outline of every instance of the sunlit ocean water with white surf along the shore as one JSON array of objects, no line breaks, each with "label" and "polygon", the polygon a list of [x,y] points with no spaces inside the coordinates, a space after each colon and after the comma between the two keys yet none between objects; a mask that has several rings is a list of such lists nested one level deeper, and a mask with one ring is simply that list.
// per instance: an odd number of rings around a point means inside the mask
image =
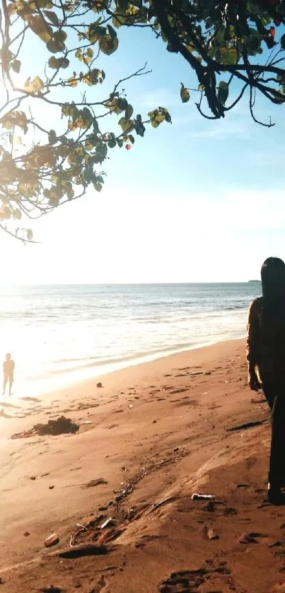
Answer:
[{"label": "sunlit ocean water with white surf along the shore", "polygon": [[0,288],[0,356],[16,397],[245,336],[259,283]]}]

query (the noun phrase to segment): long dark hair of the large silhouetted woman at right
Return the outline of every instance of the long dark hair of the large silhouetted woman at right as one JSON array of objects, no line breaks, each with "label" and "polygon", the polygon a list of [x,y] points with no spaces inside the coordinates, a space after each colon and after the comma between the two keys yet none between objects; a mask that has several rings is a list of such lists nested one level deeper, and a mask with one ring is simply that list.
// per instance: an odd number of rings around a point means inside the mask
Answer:
[{"label": "long dark hair of the large silhouetted woman at right", "polygon": [[285,264],[279,257],[268,257],[261,269],[264,316],[285,311]]}]

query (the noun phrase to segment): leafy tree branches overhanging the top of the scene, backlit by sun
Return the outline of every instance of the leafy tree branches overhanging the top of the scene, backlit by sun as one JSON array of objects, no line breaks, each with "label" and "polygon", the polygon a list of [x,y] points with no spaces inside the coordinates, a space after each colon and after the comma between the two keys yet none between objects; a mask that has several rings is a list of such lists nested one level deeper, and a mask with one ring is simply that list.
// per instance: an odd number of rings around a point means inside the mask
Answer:
[{"label": "leafy tree branches overhanging the top of the scene, backlit by sun", "polygon": [[[257,93],[285,101],[284,24],[284,0],[2,0],[1,228],[11,232],[10,219],[41,216],[88,186],[100,192],[110,150],[129,150],[146,124],[171,122],[164,107],[142,117],[127,100],[124,83],[146,67],[103,92],[100,57],[116,52],[120,28],[149,28],[187,61],[197,86],[184,81],[180,97],[194,93],[204,117],[225,117],[245,95],[257,121]],[[41,69],[32,75],[28,52],[33,58],[39,44]],[[33,240],[31,230],[16,236]]]}]

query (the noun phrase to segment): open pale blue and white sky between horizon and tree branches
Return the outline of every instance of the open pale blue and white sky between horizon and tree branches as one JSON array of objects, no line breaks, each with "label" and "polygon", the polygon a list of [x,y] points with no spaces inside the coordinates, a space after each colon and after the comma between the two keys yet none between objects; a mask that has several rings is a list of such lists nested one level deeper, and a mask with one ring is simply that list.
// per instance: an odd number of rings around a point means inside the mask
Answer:
[{"label": "open pale blue and white sky between horizon and tree branches", "polygon": [[[173,124],[148,128],[131,151],[112,151],[100,194],[91,189],[33,223],[40,245],[23,247],[1,234],[1,282],[258,277],[266,257],[285,259],[284,106],[257,102],[257,115],[276,122],[272,129],[252,122],[246,100],[210,122],[197,112],[194,93],[180,101],[180,82],[197,86],[181,57],[146,30],[121,29],[119,38],[117,52],[98,60],[105,85],[148,61],[152,73],[126,84],[128,100],[142,115],[167,107]],[[31,74],[39,62],[37,54]]]}]

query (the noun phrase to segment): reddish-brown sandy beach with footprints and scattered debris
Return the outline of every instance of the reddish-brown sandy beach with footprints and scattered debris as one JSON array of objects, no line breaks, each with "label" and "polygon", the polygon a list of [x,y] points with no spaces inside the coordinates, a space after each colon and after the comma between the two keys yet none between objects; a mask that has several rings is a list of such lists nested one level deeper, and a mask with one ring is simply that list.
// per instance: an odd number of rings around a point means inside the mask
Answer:
[{"label": "reddish-brown sandy beach with footprints and scattered debris", "polygon": [[[78,432],[10,438],[62,414]],[[285,508],[264,502],[269,411],[244,341],[15,399],[0,428],[1,593],[285,592]]]}]

